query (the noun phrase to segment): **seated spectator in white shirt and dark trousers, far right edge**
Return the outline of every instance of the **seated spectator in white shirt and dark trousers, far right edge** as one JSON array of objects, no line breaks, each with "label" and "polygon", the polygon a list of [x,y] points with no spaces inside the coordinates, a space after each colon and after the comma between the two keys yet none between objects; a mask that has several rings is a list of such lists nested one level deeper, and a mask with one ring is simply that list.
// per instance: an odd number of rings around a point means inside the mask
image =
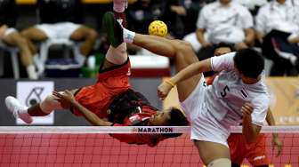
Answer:
[{"label": "seated spectator in white shirt and dark trousers, far right edge", "polygon": [[259,10],[255,19],[263,55],[273,61],[270,75],[297,75],[299,8],[295,1],[273,0]]}]

